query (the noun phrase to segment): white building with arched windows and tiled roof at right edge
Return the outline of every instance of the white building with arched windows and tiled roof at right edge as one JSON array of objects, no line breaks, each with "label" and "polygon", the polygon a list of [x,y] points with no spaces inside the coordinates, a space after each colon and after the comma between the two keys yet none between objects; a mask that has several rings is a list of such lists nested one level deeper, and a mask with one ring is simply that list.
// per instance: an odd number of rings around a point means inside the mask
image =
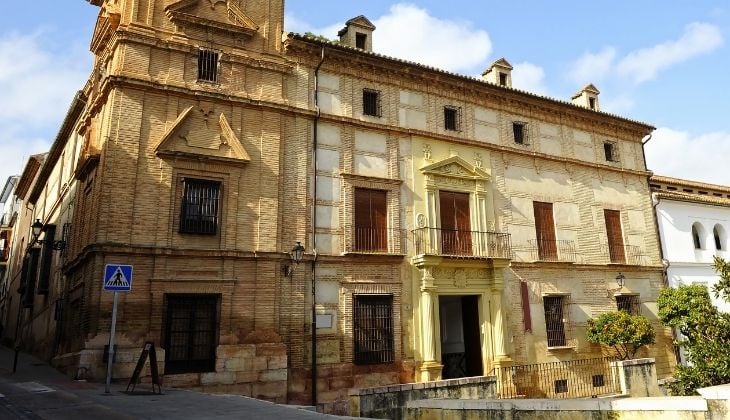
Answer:
[{"label": "white building with arched windows and tiled roof at right edge", "polygon": [[[650,186],[669,286],[695,283],[711,290],[719,280],[713,257],[730,258],[730,187],[656,175]],[[730,303],[710,296],[730,312]]]}]

